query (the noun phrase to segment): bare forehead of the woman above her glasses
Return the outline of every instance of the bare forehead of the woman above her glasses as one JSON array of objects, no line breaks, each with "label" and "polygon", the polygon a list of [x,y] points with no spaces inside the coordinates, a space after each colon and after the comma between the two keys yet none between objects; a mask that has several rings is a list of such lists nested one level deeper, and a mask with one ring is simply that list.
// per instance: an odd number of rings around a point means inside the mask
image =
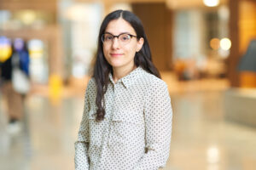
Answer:
[{"label": "bare forehead of the woman above her glasses", "polygon": [[119,35],[120,33],[123,33],[123,32],[129,32],[133,35],[136,34],[136,32],[134,31],[130,23],[122,18],[119,18],[117,20],[111,20],[108,23],[108,26],[105,31],[113,35]]}]

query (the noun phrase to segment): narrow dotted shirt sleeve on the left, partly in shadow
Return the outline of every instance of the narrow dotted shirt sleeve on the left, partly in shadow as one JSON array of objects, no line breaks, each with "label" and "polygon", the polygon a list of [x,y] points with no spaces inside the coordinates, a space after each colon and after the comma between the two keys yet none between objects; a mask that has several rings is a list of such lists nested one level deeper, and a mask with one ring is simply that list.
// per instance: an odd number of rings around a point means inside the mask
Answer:
[{"label": "narrow dotted shirt sleeve on the left, partly in shadow", "polygon": [[76,170],[89,170],[89,158],[87,154],[89,146],[89,120],[88,112],[90,111],[90,82],[86,88],[84,99],[84,112],[82,121],[79,128],[78,141],[75,142],[75,169]]}]

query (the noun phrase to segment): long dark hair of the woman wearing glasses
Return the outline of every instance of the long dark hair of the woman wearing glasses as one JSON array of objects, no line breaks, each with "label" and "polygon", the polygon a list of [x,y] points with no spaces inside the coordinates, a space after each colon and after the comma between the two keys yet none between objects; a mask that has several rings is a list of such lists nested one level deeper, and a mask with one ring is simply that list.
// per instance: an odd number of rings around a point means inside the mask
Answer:
[{"label": "long dark hair of the woman wearing glasses", "polygon": [[105,59],[103,54],[103,44],[102,44],[102,34],[105,33],[105,30],[108,26],[108,23],[111,20],[117,20],[122,18],[130,23],[133,29],[137,33],[138,39],[143,37],[144,43],[143,47],[139,52],[135,54],[134,63],[136,66],[141,66],[143,70],[148,71],[148,73],[153,74],[156,77],[160,78],[159,71],[155,68],[151,59],[151,52],[148,44],[148,39],[146,37],[145,31],[143,29],[142,21],[138,17],[126,10],[116,10],[108,14],[105,19],[102,21],[102,26],[100,28],[98,36],[98,47],[96,53],[96,63],[94,65],[93,75],[96,81],[96,121],[100,122],[105,116],[105,101],[103,99],[104,94],[107,92],[109,78],[109,73],[113,73],[112,66],[108,64],[108,61]]}]

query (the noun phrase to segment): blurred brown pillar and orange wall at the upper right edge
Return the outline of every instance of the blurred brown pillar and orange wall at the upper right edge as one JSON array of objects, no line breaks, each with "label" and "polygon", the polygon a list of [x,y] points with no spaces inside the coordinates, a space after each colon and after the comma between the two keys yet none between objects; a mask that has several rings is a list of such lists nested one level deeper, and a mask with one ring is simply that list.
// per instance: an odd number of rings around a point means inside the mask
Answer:
[{"label": "blurred brown pillar and orange wall at the upper right edge", "polygon": [[242,55],[245,54],[249,42],[256,38],[256,1],[232,0],[229,2],[229,6],[232,46],[228,60],[228,74],[231,87],[240,87],[241,82],[237,65]]}]

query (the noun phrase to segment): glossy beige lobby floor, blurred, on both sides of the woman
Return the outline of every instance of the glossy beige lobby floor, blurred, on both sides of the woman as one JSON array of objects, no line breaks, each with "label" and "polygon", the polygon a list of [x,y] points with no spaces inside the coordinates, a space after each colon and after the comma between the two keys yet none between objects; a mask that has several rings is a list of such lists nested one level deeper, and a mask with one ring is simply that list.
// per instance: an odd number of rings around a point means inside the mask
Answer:
[{"label": "glossy beige lobby floor, blurred, on both sides of the woman", "polygon": [[[173,106],[170,157],[165,170],[255,170],[256,128],[224,120],[226,81],[168,82]],[[84,89],[79,89],[84,93]],[[82,93],[81,93],[82,92]],[[83,110],[83,95],[52,105],[44,95],[26,99],[21,133],[9,135],[0,106],[1,170],[73,169],[73,143]]]}]

